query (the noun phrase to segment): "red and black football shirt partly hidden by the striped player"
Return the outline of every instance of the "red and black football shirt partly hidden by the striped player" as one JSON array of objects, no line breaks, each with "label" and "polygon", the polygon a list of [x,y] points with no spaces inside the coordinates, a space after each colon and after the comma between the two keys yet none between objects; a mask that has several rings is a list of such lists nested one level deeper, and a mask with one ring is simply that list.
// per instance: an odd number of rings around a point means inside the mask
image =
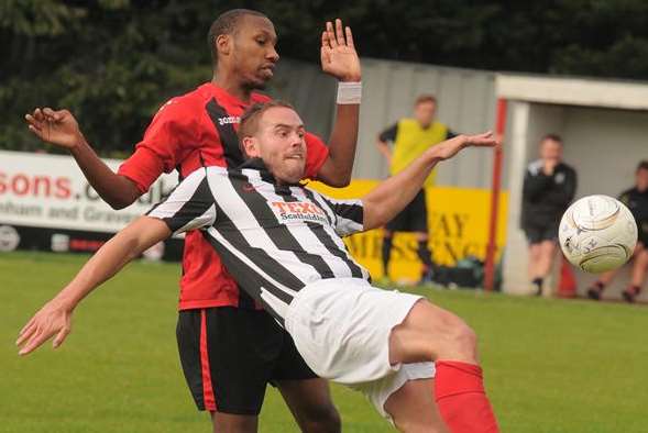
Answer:
[{"label": "red and black football shirt partly hidden by the striped player", "polygon": [[[250,103],[270,98],[253,93]],[[211,82],[171,99],[155,114],[119,174],[135,182],[142,193],[162,173],[177,169],[184,178],[202,166],[237,167],[243,162],[237,129],[248,103]],[[308,146],[306,177],[315,178],[328,157],[328,147],[312,135]],[[220,257],[199,231],[185,237],[179,309],[209,307],[254,308],[252,299],[239,291]]]}]

